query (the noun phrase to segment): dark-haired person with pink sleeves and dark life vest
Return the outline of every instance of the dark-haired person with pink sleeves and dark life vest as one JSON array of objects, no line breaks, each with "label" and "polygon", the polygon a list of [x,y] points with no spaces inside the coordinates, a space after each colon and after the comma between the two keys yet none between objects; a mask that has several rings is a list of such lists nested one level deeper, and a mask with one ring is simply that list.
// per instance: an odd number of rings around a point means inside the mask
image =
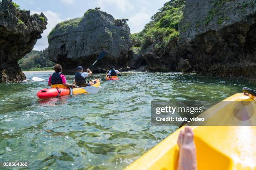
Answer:
[{"label": "dark-haired person with pink sleeves and dark life vest", "polygon": [[59,64],[54,66],[55,72],[49,77],[48,85],[64,85],[65,87],[73,87],[76,85],[68,84],[65,75],[61,73],[62,67]]}]

